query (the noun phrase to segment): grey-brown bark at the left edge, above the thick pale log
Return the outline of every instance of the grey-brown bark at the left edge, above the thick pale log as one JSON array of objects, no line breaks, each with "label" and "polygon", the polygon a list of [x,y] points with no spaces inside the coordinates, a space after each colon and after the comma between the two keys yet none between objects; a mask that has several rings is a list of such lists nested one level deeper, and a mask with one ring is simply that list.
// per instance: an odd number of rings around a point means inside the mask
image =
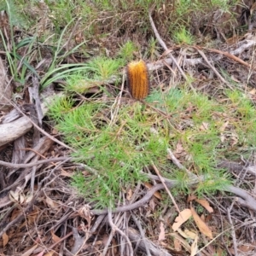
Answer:
[{"label": "grey-brown bark at the left edge, above the thick pale log", "polygon": [[12,88],[7,75],[6,67],[0,57],[0,110],[6,111],[11,108],[10,100],[12,97]]}]

